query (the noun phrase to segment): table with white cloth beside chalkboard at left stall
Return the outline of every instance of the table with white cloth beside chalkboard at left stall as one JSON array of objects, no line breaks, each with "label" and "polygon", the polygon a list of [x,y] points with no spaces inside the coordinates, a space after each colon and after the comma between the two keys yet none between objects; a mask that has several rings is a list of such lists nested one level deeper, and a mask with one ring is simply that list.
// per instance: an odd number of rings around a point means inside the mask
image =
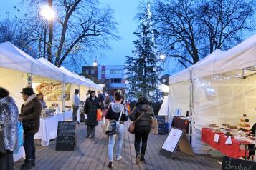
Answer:
[{"label": "table with white cloth beside chalkboard at left stall", "polygon": [[40,119],[40,128],[34,139],[41,139],[42,146],[49,146],[49,141],[57,137],[58,121],[63,121],[63,114]]}]

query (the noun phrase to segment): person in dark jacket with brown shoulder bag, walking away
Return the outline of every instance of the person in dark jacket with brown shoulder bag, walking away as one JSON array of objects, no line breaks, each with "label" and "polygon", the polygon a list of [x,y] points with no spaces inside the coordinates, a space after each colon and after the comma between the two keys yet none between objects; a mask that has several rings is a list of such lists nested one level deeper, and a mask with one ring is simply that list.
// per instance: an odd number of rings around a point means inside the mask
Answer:
[{"label": "person in dark jacket with brown shoulder bag, walking away", "polygon": [[[141,114],[143,114],[141,116]],[[138,117],[140,119],[138,119]],[[141,97],[138,99],[136,107],[133,109],[130,119],[131,121],[136,121],[135,124],[135,141],[134,148],[136,151],[136,164],[139,164],[140,161],[144,161],[144,156],[146,152],[148,135],[151,131],[152,117],[154,116],[153,108],[149,104],[146,97]],[[142,141],[142,144],[141,144]]]}]

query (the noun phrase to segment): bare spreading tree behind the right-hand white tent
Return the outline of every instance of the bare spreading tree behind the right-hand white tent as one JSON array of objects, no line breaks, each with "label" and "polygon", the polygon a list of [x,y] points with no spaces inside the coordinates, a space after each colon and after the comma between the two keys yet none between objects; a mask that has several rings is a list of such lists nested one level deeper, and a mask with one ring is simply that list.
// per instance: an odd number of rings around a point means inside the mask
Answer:
[{"label": "bare spreading tree behind the right-hand white tent", "polygon": [[186,68],[215,49],[229,49],[253,29],[253,6],[250,0],[158,0],[153,14],[161,50]]}]

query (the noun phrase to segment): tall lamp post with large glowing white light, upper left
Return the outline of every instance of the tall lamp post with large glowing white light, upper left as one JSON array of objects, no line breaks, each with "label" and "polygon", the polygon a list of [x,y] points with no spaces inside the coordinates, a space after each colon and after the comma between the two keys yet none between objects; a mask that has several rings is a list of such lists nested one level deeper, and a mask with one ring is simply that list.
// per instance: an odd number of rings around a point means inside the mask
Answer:
[{"label": "tall lamp post with large glowing white light, upper left", "polygon": [[[39,15],[42,16],[44,20],[48,22],[54,20],[56,18],[56,13],[52,9],[52,7],[48,5],[41,6],[39,10]],[[45,49],[46,49],[46,31],[47,31],[47,24],[44,22],[44,58],[45,58]]]}]

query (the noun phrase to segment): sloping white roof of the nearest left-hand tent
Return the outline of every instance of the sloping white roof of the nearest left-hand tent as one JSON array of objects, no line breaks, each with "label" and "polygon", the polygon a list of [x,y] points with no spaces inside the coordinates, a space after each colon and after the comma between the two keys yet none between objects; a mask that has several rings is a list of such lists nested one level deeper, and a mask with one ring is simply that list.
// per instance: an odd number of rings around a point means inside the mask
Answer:
[{"label": "sloping white roof of the nearest left-hand tent", "polygon": [[41,64],[11,42],[0,44],[0,67],[61,81],[58,71]]}]

